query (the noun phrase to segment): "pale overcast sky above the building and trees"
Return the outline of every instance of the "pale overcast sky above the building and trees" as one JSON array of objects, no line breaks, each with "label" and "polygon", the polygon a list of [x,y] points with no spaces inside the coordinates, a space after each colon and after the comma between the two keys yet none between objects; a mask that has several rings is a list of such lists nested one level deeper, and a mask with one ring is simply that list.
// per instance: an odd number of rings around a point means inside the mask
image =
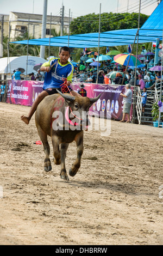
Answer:
[{"label": "pale overcast sky above the building and trees", "polygon": [[[0,0],[0,13],[9,14],[10,11],[18,13],[43,13],[43,0]],[[62,0],[47,0],[47,15],[60,15]],[[69,9],[73,17],[90,13],[99,13],[101,3],[102,13],[127,11],[139,12],[139,0],[63,0],[65,6],[65,16],[69,15]],[[156,0],[141,0],[141,13],[151,15],[157,7]]]}]

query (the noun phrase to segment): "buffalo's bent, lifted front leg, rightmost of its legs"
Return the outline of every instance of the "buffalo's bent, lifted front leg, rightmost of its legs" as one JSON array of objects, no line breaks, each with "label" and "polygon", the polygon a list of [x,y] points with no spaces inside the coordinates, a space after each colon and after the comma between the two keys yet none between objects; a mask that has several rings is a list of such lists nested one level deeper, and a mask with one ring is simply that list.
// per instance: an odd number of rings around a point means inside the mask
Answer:
[{"label": "buffalo's bent, lifted front leg, rightmost of its legs", "polygon": [[79,135],[76,136],[75,138],[76,144],[77,144],[77,159],[76,161],[72,164],[72,167],[69,170],[70,176],[76,175],[78,172],[78,169],[80,168],[81,164],[81,158],[83,155],[83,131],[79,133]]}]

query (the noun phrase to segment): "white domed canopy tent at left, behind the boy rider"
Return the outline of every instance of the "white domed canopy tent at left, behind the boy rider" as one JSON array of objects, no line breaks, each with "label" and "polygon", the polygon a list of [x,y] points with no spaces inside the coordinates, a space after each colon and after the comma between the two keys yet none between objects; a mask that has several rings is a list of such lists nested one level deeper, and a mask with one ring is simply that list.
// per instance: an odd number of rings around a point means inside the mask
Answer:
[{"label": "white domed canopy tent at left, behind the boy rider", "polygon": [[5,57],[0,59],[0,74],[13,74],[18,68],[24,69],[24,75],[35,72],[34,65],[45,63],[47,60],[35,56]]}]

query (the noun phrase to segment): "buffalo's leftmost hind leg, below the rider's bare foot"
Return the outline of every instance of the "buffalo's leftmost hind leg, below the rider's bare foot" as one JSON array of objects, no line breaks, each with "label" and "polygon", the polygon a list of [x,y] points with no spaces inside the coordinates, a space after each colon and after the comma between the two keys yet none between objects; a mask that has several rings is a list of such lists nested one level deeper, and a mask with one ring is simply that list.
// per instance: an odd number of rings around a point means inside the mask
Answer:
[{"label": "buffalo's leftmost hind leg, below the rider's bare foot", "polygon": [[45,170],[45,172],[49,172],[50,170],[52,170],[52,165],[51,165],[51,160],[49,159],[50,147],[49,147],[49,143],[48,143],[48,140],[47,140],[47,135],[41,129],[40,126],[37,126],[37,130],[39,132],[40,139],[43,143],[43,150],[44,150],[44,153],[45,153],[44,170]]}]

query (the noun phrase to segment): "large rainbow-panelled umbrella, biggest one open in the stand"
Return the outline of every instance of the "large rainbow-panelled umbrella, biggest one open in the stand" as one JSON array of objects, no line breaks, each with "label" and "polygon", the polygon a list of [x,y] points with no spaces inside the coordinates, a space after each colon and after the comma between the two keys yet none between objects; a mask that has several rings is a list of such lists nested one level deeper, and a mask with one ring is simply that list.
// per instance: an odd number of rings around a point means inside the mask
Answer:
[{"label": "large rainbow-panelled umbrella, biggest one open in the stand", "polygon": [[[121,64],[121,65],[124,65],[124,66],[127,66],[128,64],[128,60],[129,60],[129,57],[130,57],[130,54],[118,54],[116,56],[114,56],[114,60],[115,62]],[[136,56],[131,54],[131,57],[130,57],[130,61],[129,61],[129,66],[135,66],[136,64]],[[137,65],[140,65],[141,64],[141,60],[139,58],[137,58]]]}]

